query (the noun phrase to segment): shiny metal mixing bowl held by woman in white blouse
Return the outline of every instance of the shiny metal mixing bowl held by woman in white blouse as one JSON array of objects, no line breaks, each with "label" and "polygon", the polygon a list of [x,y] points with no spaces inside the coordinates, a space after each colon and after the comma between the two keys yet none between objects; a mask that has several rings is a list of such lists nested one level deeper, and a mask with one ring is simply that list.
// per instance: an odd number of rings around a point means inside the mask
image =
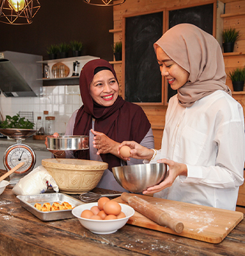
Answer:
[{"label": "shiny metal mixing bowl held by woman in white blouse", "polygon": [[121,187],[133,193],[141,193],[166,178],[167,166],[163,163],[125,165],[113,167],[113,175]]}]

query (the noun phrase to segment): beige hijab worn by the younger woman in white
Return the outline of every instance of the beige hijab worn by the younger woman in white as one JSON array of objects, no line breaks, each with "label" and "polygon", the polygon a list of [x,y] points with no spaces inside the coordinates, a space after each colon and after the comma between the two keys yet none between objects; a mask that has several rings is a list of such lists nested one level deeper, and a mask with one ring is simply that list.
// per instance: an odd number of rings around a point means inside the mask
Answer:
[{"label": "beige hijab worn by the younger woman in white", "polygon": [[157,46],[190,74],[188,82],[178,89],[177,97],[183,107],[190,107],[216,90],[231,95],[225,85],[221,47],[213,35],[192,24],[178,24],[154,44],[155,50]]}]

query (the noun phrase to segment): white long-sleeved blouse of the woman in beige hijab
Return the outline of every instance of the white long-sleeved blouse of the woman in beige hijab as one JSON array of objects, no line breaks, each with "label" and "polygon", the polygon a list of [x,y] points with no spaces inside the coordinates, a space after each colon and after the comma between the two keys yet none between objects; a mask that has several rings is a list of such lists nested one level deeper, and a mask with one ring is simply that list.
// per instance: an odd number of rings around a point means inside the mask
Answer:
[{"label": "white long-sleeved blouse of the woman in beige hijab", "polygon": [[168,103],[162,147],[157,159],[188,167],[171,187],[154,196],[235,210],[244,182],[245,136],[241,105],[224,91],[215,91],[191,107]]}]

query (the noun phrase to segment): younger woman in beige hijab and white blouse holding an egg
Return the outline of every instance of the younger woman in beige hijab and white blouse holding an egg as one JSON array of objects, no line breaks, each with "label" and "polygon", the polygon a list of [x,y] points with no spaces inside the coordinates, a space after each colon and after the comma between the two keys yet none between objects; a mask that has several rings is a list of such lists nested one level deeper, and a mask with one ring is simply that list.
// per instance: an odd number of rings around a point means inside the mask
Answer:
[{"label": "younger woman in beige hijab and white blouse holding an egg", "polygon": [[129,145],[130,157],[168,165],[168,177],[143,194],[235,210],[244,182],[244,113],[225,85],[221,47],[212,35],[179,24],[154,44],[161,74],[177,94],[166,112],[160,151]]}]

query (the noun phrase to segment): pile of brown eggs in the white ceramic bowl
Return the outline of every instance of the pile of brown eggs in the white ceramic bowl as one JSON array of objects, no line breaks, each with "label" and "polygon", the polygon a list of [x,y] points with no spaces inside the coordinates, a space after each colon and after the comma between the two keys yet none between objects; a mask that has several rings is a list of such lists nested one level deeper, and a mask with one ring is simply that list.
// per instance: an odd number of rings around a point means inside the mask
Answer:
[{"label": "pile of brown eggs in the white ceramic bowl", "polygon": [[126,215],[121,212],[121,205],[118,202],[102,197],[99,198],[98,206],[93,206],[90,210],[83,210],[81,217],[91,220],[116,220],[117,218],[125,218]]}]

